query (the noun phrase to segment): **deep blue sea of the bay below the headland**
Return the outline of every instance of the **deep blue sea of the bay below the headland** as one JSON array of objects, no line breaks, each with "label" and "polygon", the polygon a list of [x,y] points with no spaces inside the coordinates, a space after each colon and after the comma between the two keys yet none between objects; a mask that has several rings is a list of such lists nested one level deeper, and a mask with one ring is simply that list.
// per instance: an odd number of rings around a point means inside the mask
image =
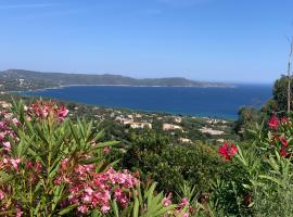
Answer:
[{"label": "deep blue sea of the bay below the headland", "polygon": [[148,112],[237,118],[241,106],[260,107],[271,98],[271,88],[269,85],[234,88],[71,86],[22,94]]}]

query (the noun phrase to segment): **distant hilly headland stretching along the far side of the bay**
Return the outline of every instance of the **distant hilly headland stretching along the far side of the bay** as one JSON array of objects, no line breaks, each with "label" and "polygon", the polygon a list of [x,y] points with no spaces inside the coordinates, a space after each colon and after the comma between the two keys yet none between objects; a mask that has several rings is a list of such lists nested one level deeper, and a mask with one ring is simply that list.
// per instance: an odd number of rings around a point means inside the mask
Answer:
[{"label": "distant hilly headland stretching along the far side of the bay", "polygon": [[89,75],[66,73],[41,73],[24,69],[0,72],[0,90],[22,91],[44,88],[56,88],[72,85],[105,86],[163,86],[163,87],[230,87],[221,82],[203,82],[182,77],[136,79],[122,75]]}]

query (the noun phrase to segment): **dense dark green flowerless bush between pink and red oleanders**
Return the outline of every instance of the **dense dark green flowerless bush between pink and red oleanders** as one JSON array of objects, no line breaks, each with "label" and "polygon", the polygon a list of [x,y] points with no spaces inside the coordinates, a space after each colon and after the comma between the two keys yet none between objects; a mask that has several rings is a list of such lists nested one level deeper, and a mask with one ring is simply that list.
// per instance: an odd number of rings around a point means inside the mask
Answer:
[{"label": "dense dark green flowerless bush between pink and red oleanders", "polygon": [[154,130],[131,133],[130,138],[131,145],[120,155],[120,166],[139,170],[144,180],[156,180],[161,190],[179,191],[180,184],[188,182],[198,191],[206,191],[220,176],[224,161],[207,144],[176,145]]}]

